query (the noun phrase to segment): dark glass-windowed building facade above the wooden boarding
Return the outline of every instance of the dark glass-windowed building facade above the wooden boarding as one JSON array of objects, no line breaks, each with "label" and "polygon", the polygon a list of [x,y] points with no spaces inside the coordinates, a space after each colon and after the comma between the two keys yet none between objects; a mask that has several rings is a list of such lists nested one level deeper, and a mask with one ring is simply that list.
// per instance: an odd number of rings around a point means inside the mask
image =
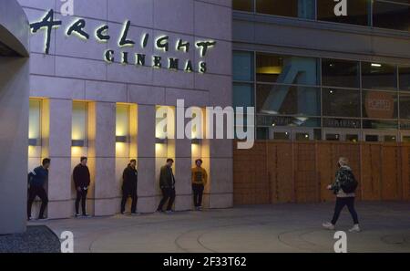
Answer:
[{"label": "dark glass-windowed building facade above the wooden boarding", "polygon": [[259,140],[410,141],[410,2],[233,1],[233,104]]}]

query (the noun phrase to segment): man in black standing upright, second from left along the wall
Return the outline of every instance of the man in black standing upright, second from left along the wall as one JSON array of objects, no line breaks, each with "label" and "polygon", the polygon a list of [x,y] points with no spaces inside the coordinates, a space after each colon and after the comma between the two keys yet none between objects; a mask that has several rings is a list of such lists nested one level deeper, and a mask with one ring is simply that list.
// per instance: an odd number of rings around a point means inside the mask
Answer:
[{"label": "man in black standing upright, second from left along the wall", "polygon": [[73,180],[76,186],[77,199],[76,199],[76,217],[80,216],[78,213],[79,203],[81,202],[82,215],[87,217],[86,203],[89,183],[91,182],[89,170],[87,167],[87,157],[81,157],[80,163],[74,168]]}]

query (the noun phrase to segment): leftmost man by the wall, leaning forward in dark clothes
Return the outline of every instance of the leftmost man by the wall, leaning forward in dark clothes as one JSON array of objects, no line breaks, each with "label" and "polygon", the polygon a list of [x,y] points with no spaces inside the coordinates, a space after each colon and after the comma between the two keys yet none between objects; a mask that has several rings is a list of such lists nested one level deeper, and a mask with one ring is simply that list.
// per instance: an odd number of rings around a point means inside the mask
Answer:
[{"label": "leftmost man by the wall, leaning forward in dark clothes", "polygon": [[51,160],[45,158],[42,165],[36,167],[32,172],[28,173],[28,201],[27,201],[27,220],[31,220],[31,206],[33,205],[36,196],[41,200],[40,214],[38,220],[45,220],[44,211],[48,203],[48,197],[44,184],[48,180],[48,168],[50,167]]}]

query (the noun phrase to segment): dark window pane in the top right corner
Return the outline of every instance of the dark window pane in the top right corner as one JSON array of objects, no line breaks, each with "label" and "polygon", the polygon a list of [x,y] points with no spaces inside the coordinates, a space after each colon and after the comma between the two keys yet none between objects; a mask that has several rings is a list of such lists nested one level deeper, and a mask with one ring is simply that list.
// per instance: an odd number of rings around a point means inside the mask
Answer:
[{"label": "dark window pane in the top right corner", "polygon": [[[407,4],[409,4],[407,2]],[[395,30],[410,30],[410,5],[374,1],[373,25]]]}]

